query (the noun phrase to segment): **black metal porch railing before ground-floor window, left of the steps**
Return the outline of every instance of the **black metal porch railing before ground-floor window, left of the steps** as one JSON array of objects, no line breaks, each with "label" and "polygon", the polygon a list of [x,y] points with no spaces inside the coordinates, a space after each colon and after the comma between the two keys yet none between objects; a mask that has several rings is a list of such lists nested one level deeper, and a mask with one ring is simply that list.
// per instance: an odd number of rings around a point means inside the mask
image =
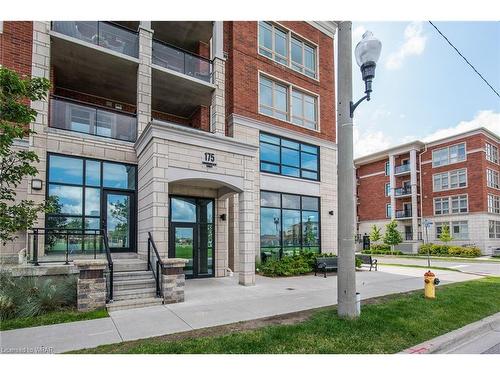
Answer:
[{"label": "black metal porch railing before ground-floor window, left of the steps", "polygon": [[[101,229],[33,228],[28,232],[28,261],[40,263],[64,262],[93,257],[104,251]],[[41,251],[43,250],[43,251]],[[45,256],[40,258],[40,252]]]}]

